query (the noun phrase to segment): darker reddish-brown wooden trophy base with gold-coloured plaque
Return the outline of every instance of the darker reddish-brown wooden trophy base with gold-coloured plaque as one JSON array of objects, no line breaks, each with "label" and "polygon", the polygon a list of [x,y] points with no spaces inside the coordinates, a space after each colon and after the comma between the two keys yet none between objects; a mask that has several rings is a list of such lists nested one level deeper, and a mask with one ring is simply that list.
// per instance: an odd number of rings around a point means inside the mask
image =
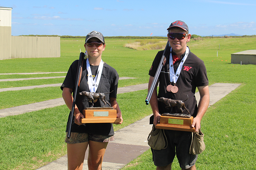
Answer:
[{"label": "darker reddish-brown wooden trophy base with gold-coloured plaque", "polygon": [[195,132],[195,128],[191,127],[193,116],[186,118],[183,116],[160,116],[160,123],[155,127],[157,129],[168,129],[174,131]]}]

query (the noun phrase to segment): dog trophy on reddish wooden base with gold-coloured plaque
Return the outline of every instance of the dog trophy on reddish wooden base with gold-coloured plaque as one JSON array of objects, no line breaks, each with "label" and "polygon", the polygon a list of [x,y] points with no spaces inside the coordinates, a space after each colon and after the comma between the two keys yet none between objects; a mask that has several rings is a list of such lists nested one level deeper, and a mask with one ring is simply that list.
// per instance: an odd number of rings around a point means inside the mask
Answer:
[{"label": "dog trophy on reddish wooden base with gold-coloured plaque", "polygon": [[[182,100],[172,100],[170,98],[157,98],[159,102],[164,102],[167,107],[178,107],[181,110],[181,114],[179,113],[163,113],[160,116],[160,123],[158,123],[155,127],[157,129],[168,129],[175,131],[188,131],[195,132],[195,128],[191,127],[193,122],[193,116],[189,115],[189,111],[187,107],[185,107],[184,101]],[[188,111],[187,114],[183,114],[183,109]]]}]

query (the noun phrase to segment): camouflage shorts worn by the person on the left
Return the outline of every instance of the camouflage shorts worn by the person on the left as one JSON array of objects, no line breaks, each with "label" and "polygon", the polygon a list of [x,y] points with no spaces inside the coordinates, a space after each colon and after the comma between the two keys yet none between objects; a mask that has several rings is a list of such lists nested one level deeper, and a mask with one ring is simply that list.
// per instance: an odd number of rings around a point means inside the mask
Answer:
[{"label": "camouflage shorts worn by the person on the left", "polygon": [[70,138],[67,138],[66,134],[66,143],[82,143],[82,142],[88,142],[91,141],[97,141],[97,142],[109,142],[114,140],[114,135],[100,135],[100,134],[90,134],[90,133],[77,133],[77,132],[71,132]]}]

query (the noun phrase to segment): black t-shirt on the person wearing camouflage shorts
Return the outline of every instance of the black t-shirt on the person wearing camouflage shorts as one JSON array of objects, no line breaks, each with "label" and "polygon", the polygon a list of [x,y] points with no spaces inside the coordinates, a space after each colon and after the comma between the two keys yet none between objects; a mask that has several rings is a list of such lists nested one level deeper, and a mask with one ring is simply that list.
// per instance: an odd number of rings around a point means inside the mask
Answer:
[{"label": "black t-shirt on the person wearing camouflage shorts", "polygon": [[[77,65],[78,65],[78,60],[74,61],[69,67],[66,78],[62,86],[60,87],[62,90],[64,87],[66,87],[66,88],[71,88],[73,89],[73,91],[75,91],[75,78],[77,75]],[[94,74],[93,77],[95,77],[95,73],[97,73],[97,69],[98,69],[98,66],[91,66],[91,72],[92,74]],[[109,66],[108,64],[104,63],[102,74],[101,74],[101,80],[99,82],[99,86],[96,90],[96,93],[109,93],[113,91],[109,94],[105,94],[106,95],[105,100],[108,102],[110,102],[110,97],[117,98],[118,79],[119,79],[119,75],[117,71],[111,66]],[[76,100],[76,105],[81,113],[86,107],[90,107],[88,103],[88,99],[85,96],[79,95],[81,91],[90,92],[87,81],[88,81],[88,71],[86,69],[86,60],[84,60],[82,77],[80,81],[80,86],[77,90],[77,100]],[[93,107],[103,107],[103,106],[104,106],[104,102],[102,102],[101,100],[97,100],[97,102],[94,103]],[[105,107],[109,107],[108,104],[106,104]],[[68,127],[68,124],[67,124],[67,127]],[[77,125],[74,123],[74,117],[71,125],[71,132],[80,132],[80,133],[86,132],[86,133],[101,134],[101,135],[114,134],[112,123],[86,123],[83,125]]]}]

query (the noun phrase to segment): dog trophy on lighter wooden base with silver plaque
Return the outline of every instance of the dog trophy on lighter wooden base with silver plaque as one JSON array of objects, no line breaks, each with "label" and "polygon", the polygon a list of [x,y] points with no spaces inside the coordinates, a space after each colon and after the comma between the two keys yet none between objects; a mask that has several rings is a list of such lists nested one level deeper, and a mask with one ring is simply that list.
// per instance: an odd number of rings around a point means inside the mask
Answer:
[{"label": "dog trophy on lighter wooden base with silver plaque", "polygon": [[[110,92],[111,93],[111,92]],[[105,107],[108,103],[105,100],[107,93],[91,93],[88,91],[82,91],[79,93],[80,95],[84,95],[88,98],[88,102],[92,104],[91,107],[86,107],[83,110],[84,118],[80,120],[81,123],[118,123],[121,122],[121,118],[117,118],[117,110],[113,109],[113,107]],[[100,99],[104,102],[103,107],[93,107],[94,102]]]}]

